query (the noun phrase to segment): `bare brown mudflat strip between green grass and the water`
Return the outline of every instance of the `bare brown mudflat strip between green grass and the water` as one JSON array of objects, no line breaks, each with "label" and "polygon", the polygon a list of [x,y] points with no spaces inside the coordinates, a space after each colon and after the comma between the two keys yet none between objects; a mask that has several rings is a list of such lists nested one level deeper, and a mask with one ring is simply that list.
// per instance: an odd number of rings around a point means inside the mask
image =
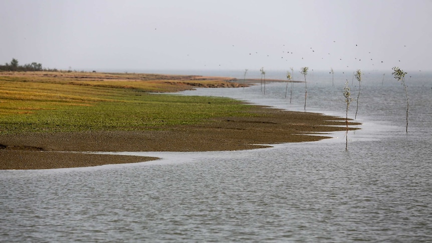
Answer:
[{"label": "bare brown mudflat strip between green grass and the water", "polygon": [[260,113],[258,117],[226,117],[199,125],[165,127],[163,130],[3,135],[0,136],[0,144],[4,145],[0,149],[0,169],[53,169],[144,162],[157,158],[77,152],[244,150],[267,147],[256,144],[318,141],[330,136],[317,132],[346,129],[345,120],[339,117],[255,107],[254,111]]}]

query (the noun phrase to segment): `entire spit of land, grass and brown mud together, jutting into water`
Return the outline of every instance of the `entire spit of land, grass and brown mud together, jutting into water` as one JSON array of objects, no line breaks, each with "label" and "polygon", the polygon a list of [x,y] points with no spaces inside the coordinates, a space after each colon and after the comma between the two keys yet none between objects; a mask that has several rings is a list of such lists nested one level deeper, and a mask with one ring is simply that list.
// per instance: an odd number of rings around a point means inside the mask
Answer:
[{"label": "entire spit of land, grass and brown mud together, jutting into water", "polygon": [[226,98],[155,94],[257,82],[156,74],[0,73],[0,169],[143,162],[157,158],[87,152],[242,150],[317,141],[328,138],[322,132],[346,129],[340,117]]}]

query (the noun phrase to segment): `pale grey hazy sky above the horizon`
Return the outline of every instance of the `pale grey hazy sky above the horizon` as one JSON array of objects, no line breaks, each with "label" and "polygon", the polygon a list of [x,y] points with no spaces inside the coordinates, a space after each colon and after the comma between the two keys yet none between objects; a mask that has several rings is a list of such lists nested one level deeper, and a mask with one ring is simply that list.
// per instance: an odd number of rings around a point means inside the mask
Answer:
[{"label": "pale grey hazy sky above the horizon", "polygon": [[0,63],[432,70],[432,1],[0,0]]}]

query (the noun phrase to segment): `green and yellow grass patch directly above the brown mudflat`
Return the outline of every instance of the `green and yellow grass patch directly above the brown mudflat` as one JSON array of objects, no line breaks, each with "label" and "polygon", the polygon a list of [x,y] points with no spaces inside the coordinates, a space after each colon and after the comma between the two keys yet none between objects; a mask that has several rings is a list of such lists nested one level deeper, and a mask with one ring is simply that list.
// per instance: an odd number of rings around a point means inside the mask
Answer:
[{"label": "green and yellow grass patch directly above the brown mudflat", "polygon": [[0,77],[0,134],[152,130],[253,115],[251,106],[233,99],[153,94],[115,82],[102,87]]}]

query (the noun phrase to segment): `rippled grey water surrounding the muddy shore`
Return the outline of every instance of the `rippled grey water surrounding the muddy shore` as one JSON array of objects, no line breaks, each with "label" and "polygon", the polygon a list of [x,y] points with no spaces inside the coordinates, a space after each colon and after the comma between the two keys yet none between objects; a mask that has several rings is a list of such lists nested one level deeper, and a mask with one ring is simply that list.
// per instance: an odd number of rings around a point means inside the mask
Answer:
[{"label": "rippled grey water surrounding the muddy shore", "polygon": [[[220,75],[220,74],[214,74]],[[298,74],[300,75],[300,74]],[[409,74],[408,74],[409,75]],[[270,75],[269,75],[270,76]],[[345,77],[346,76],[346,77]],[[430,242],[432,241],[432,75],[365,74],[361,130],[319,142],[224,152],[122,152],[161,160],[89,168],[0,171],[0,241],[30,242]],[[345,116],[352,73],[307,77],[306,111]],[[337,79],[336,79],[337,78]],[[198,89],[304,110],[285,83]],[[356,101],[349,118],[354,118]]]}]

